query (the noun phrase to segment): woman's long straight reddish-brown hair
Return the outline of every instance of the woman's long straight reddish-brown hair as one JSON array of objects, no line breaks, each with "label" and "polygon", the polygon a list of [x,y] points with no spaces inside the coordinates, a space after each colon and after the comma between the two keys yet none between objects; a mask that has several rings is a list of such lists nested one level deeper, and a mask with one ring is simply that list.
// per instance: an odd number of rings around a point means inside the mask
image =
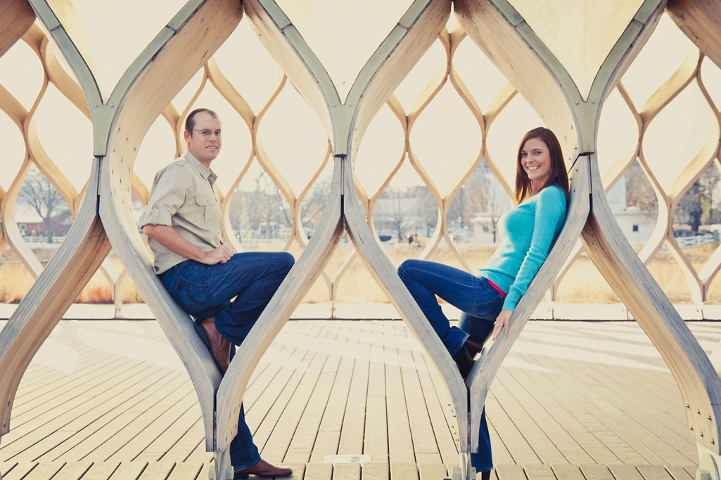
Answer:
[{"label": "woman's long straight reddish-brown hair", "polygon": [[521,144],[518,146],[518,156],[516,157],[516,200],[518,200],[518,203],[521,203],[523,200],[526,200],[526,197],[531,197],[538,193],[534,192],[531,179],[528,178],[528,174],[526,174],[526,170],[523,169],[523,165],[521,164],[521,150],[523,150],[523,146],[526,145],[526,141],[531,138],[539,138],[545,143],[551,156],[551,169],[549,170],[548,180],[538,192],[550,185],[558,185],[566,194],[566,202],[568,202],[568,174],[566,172],[566,164],[563,162],[561,144],[558,143],[556,135],[544,127],[528,130],[526,135],[523,135]]}]

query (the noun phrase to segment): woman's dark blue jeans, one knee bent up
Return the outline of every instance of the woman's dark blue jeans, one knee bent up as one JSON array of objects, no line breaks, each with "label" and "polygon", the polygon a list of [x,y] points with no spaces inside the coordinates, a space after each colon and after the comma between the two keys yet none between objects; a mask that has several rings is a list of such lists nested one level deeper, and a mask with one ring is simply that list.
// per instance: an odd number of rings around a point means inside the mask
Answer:
[{"label": "woman's dark blue jeans, one knee bent up", "polygon": [[[485,342],[503,308],[503,296],[487,279],[442,263],[406,260],[398,268],[398,275],[451,357],[461,350],[468,337]],[[459,326],[451,326],[435,295],[463,312]],[[493,468],[485,409],[481,415],[478,453],[471,454],[471,463],[476,471]]]}]

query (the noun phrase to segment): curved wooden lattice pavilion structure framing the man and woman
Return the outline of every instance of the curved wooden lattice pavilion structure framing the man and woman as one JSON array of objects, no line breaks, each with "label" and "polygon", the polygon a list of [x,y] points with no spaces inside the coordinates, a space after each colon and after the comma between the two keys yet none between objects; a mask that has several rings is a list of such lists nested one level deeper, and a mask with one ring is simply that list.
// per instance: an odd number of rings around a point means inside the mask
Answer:
[{"label": "curved wooden lattice pavilion structure framing the man and woman", "polygon": [[[120,292],[127,277],[131,277],[149,304],[195,385],[203,412],[206,447],[215,452],[216,478],[232,478],[229,443],[235,434],[234,419],[252,371],[311,285],[324,277],[332,295],[334,285],[357,256],[394,303],[445,379],[458,419],[459,467],[455,474],[459,478],[471,478],[468,453],[477,448],[474,439],[477,439],[479,415],[490,383],[541,297],[554,283],[559,283],[559,274],[562,275],[579,254],[581,247],[576,243],[580,236],[593,263],[645,330],[675,376],[687,406],[690,435],[699,447],[699,471],[719,479],[717,461],[721,425],[717,418],[721,413],[721,380],[715,369],[718,365],[712,365],[704,354],[646,270],[644,262],[665,242],[681,265],[686,265],[684,271],[691,279],[692,295],[699,302],[704,300],[708,285],[721,268],[721,254],[716,252],[697,274],[673,240],[670,228],[671,213],[678,200],[709,165],[719,161],[721,114],[704,88],[701,65],[704,58],[709,58],[721,66],[721,39],[717,31],[721,6],[703,0],[671,1],[668,5],[662,0],[633,0],[615,8],[595,1],[456,0],[453,9],[459,25],[448,32],[446,24],[451,15],[451,0],[406,3],[407,8],[401,9],[399,19],[394,19],[389,34],[379,45],[373,45],[372,54],[357,76],[344,79],[340,85],[334,83],[339,77],[331,74],[333,66],[329,64],[327,52],[318,51],[318,45],[313,43],[317,40],[314,32],[318,25],[309,21],[312,15],[304,16],[302,9],[297,9],[291,2],[245,0],[241,4],[239,0],[190,0],[152,38],[117,84],[108,89],[105,74],[97,69],[91,57],[92,49],[87,43],[82,19],[72,4],[60,0],[0,1],[0,55],[22,39],[40,58],[45,73],[43,87],[30,110],[0,86],[0,108],[22,131],[26,146],[25,159],[12,185],[7,190],[0,190],[3,226],[0,248],[4,249],[6,242],[10,244],[37,277],[0,334],[0,435],[9,431],[12,401],[32,356],[90,277],[102,270],[114,286],[116,304],[122,301]],[[320,9],[322,5],[316,8]],[[689,55],[688,61],[645,105],[636,108],[619,80],[666,9],[699,50]],[[45,32],[34,25],[36,17]],[[211,58],[241,22],[252,27],[283,71],[257,113]],[[572,25],[572,28],[559,34],[559,25]],[[466,88],[452,61],[466,35],[510,81],[485,113]],[[446,68],[442,68],[428,84],[412,110],[405,112],[394,97],[394,91],[436,40],[440,40],[446,52]],[[55,49],[63,55],[76,80],[63,67]],[[200,88],[179,112],[171,102],[198,71],[202,71]],[[274,166],[257,137],[263,115],[282,89],[288,88],[286,79],[314,110],[329,139],[325,153],[319,154],[324,156],[322,166],[299,195],[283,178],[283,172]],[[410,131],[448,79],[472,110],[483,133],[483,141],[443,192],[417,159],[410,142]],[[229,226],[227,207],[231,192],[255,158],[291,205],[294,223],[286,248],[294,240],[304,247],[295,267],[250,332],[224,378],[196,337],[189,316],[174,303],[153,274],[151,257],[138,234],[131,210],[131,192],[141,202],[145,202],[148,195],[146,186],[133,172],[143,138],[156,119],[162,117],[174,129],[176,154],[179,153],[182,122],[208,80],[242,117],[252,138],[249,160],[235,183],[224,192],[226,225]],[[643,135],[658,112],[694,80],[704,92],[716,123],[712,125],[702,151],[682,166],[671,185],[665,185],[655,179],[653,168],[644,158]],[[34,113],[49,83],[92,121],[92,170],[80,191],[53,164],[37,137]],[[596,151],[598,124],[604,102],[614,89],[618,89],[629,104],[640,139],[602,176]],[[448,235],[445,215],[451,199],[481,159],[487,161],[510,192],[504,173],[507,168],[491,158],[486,136],[495,117],[517,92],[562,139],[572,177],[569,215],[548,261],[518,303],[511,334],[482,352],[464,383],[441,341],[400,282],[394,265],[373,232],[373,205],[391,177],[378,192],[368,195],[353,174],[355,159],[371,120],[384,105],[389,105],[404,133],[401,162],[407,155],[433,193],[441,212],[439,227],[421,257],[429,257],[444,237],[461,264],[469,268]],[[331,158],[333,177],[327,208],[306,245],[298,222],[301,199]],[[658,197],[663,200],[663,203],[659,202],[658,227],[640,255],[619,231],[604,192],[637,158]],[[13,216],[17,192],[32,164],[56,185],[75,218],[66,240],[44,269],[22,241]],[[355,252],[332,278],[324,267],[344,231],[353,241]],[[240,249],[232,235],[228,235],[227,240]],[[120,275],[105,262],[111,247],[124,267]]]}]

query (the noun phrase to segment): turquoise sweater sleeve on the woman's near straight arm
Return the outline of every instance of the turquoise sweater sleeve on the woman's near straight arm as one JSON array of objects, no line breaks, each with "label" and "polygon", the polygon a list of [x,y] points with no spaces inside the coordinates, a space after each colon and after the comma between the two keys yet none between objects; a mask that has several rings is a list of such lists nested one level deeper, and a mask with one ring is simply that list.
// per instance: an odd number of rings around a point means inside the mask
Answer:
[{"label": "turquoise sweater sleeve on the woman's near straight arm", "polygon": [[557,187],[545,188],[536,200],[536,217],[534,234],[526,257],[523,258],[516,280],[510,285],[508,295],[503,302],[503,309],[513,311],[531,281],[536,277],[541,265],[546,261],[548,252],[554,241],[554,234],[559,223],[565,221],[566,196]]}]

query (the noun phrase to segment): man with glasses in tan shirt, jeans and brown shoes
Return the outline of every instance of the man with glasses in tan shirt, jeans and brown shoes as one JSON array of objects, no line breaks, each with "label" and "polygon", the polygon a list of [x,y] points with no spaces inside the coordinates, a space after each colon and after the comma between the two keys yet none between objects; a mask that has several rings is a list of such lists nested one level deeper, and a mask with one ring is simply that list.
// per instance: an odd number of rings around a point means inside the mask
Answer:
[{"label": "man with glasses in tan shirt, jeans and brown shoes", "polygon": [[[225,373],[231,345],[242,344],[295,260],[287,252],[233,254],[223,244],[223,213],[213,190],[218,177],[211,170],[222,143],[218,115],[193,110],[184,136],[187,151],[156,174],[140,224],[155,254],[156,275],[193,316],[200,339]],[[230,455],[235,479],[293,473],[260,458],[242,406]]]}]

